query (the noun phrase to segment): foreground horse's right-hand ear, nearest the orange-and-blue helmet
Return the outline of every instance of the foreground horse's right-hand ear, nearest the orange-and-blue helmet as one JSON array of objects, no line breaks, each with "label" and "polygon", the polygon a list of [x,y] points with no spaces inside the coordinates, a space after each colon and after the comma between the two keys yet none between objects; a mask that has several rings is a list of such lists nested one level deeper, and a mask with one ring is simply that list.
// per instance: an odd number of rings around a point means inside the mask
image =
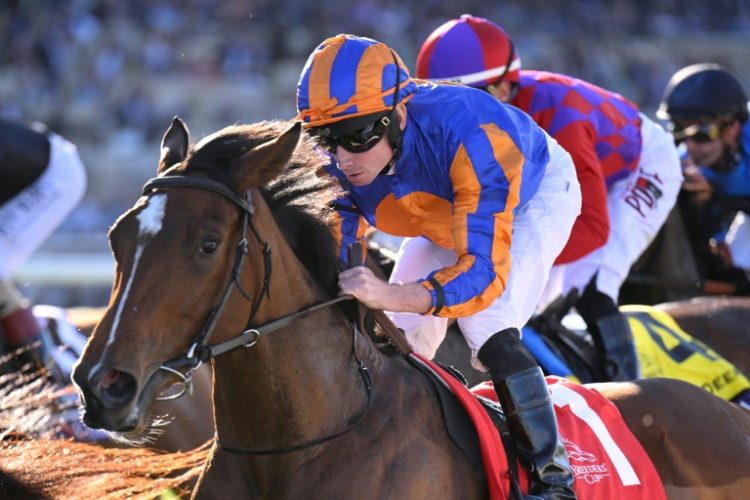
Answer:
[{"label": "foreground horse's right-hand ear, nearest the orange-and-blue helmet", "polygon": [[276,139],[254,147],[239,162],[238,179],[243,191],[266,185],[284,170],[291,159],[302,131],[302,122],[295,122]]}]

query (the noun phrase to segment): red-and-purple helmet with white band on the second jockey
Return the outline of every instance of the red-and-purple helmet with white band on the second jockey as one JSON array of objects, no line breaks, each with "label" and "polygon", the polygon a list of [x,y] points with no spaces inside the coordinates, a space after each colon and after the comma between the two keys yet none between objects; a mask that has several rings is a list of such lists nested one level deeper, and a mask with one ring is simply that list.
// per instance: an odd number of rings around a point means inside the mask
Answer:
[{"label": "red-and-purple helmet with white band on the second jockey", "polygon": [[464,14],[433,31],[417,55],[417,78],[484,89],[518,83],[521,59],[508,34],[492,21]]}]

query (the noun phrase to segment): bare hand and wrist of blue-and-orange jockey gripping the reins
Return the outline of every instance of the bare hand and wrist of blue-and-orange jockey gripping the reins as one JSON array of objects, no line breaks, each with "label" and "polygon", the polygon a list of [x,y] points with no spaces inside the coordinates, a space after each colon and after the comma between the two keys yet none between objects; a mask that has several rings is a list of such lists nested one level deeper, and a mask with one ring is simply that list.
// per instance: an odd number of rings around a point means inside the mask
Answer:
[{"label": "bare hand and wrist of blue-and-orange jockey gripping the reins", "polygon": [[339,288],[371,309],[425,313],[432,307],[432,295],[419,283],[387,283],[363,266],[339,274]]}]

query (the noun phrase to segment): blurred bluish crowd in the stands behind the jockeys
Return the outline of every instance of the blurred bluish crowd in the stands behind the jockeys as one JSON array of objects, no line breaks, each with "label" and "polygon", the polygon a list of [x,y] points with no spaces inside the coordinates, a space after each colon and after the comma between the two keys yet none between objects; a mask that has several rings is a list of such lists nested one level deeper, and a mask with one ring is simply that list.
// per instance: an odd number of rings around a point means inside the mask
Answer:
[{"label": "blurred bluish crowd in the stands behind the jockeys", "polygon": [[424,38],[465,12],[502,25],[525,68],[600,84],[651,116],[690,63],[725,64],[750,85],[746,0],[4,0],[0,114],[78,145],[89,191],[62,232],[90,231],[104,247],[155,173],[172,116],[194,139],[292,118],[300,70],[324,38],[374,37],[413,70]]}]

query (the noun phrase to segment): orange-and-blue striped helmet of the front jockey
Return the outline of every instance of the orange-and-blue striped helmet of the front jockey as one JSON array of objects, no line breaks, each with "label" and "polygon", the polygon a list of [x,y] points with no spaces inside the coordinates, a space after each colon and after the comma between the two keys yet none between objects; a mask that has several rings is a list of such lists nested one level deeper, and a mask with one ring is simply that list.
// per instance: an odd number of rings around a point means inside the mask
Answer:
[{"label": "orange-and-blue striped helmet of the front jockey", "polygon": [[297,83],[298,119],[306,127],[319,127],[387,113],[416,90],[409,69],[387,45],[337,35],[323,41],[302,69]]}]

